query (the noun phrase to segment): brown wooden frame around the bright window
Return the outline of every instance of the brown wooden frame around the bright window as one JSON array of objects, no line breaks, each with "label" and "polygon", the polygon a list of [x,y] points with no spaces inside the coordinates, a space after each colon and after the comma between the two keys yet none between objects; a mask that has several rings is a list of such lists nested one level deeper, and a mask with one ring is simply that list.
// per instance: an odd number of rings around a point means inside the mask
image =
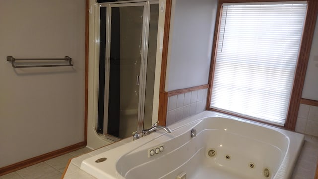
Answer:
[{"label": "brown wooden frame around the bright window", "polygon": [[297,64],[294,74],[293,86],[290,96],[290,102],[288,107],[288,112],[284,124],[284,128],[287,130],[295,131],[298,109],[300,105],[300,100],[302,96],[302,90],[305,81],[305,75],[308,65],[309,54],[311,50],[317,13],[318,13],[318,1],[317,0],[219,0],[217,7],[217,16],[215,22],[215,30],[214,30],[214,38],[213,38],[213,46],[212,46],[212,55],[211,55],[211,65],[210,65],[210,73],[209,73],[209,89],[208,89],[208,97],[207,97],[207,110],[218,111],[226,114],[231,114],[237,117],[246,118],[249,120],[273,125],[276,127],[282,127],[279,125],[272,124],[270,122],[264,122],[260,120],[255,120],[253,118],[249,118],[246,116],[234,114],[231,112],[220,111],[214,108],[210,108],[211,97],[212,97],[212,87],[213,87],[213,78],[214,78],[214,67],[216,62],[216,53],[218,47],[219,40],[219,31],[220,31],[220,22],[222,15],[222,4],[223,3],[244,3],[244,2],[293,2],[293,1],[307,1],[307,11],[305,15],[305,22],[303,27],[303,33],[301,36],[301,43],[299,47],[299,53],[297,58]]}]

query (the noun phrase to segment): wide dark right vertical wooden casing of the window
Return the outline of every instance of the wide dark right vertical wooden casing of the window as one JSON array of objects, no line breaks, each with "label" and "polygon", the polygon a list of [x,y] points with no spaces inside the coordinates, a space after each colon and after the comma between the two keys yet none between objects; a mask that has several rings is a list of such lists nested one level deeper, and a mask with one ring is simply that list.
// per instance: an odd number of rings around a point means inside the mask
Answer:
[{"label": "wide dark right vertical wooden casing of the window", "polygon": [[304,23],[304,31],[299,48],[298,62],[295,70],[294,84],[289,103],[289,110],[285,122],[285,128],[292,131],[295,130],[296,126],[298,109],[300,99],[302,97],[308,59],[312,46],[318,13],[318,1],[309,1],[307,5],[308,6]]}]

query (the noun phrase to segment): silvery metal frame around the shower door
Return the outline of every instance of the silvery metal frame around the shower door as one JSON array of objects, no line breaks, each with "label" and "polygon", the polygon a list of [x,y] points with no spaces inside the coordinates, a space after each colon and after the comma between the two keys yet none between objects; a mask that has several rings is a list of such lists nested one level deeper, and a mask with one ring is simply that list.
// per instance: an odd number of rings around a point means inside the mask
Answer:
[{"label": "silvery metal frame around the shower door", "polygon": [[[148,37],[149,37],[149,19],[150,19],[150,6],[151,4],[159,4],[159,0],[150,1],[122,1],[110,2],[99,5],[106,7],[106,66],[105,66],[105,98],[104,98],[104,130],[103,134],[112,140],[116,137],[108,136],[108,103],[109,103],[109,77],[110,77],[110,41],[111,41],[111,9],[112,7],[131,7],[143,6],[143,27],[142,27],[142,46],[141,46],[141,61],[140,61],[140,85],[139,85],[139,99],[138,99],[138,117],[137,117],[137,132],[141,132],[144,124],[144,111],[145,111],[145,89],[146,89],[146,75],[147,75],[147,58],[148,58]],[[98,15],[100,18],[100,15]],[[99,19],[100,25],[100,19]],[[99,33],[98,33],[99,34]],[[99,39],[99,38],[97,38]],[[133,132],[133,131],[132,131]]]}]

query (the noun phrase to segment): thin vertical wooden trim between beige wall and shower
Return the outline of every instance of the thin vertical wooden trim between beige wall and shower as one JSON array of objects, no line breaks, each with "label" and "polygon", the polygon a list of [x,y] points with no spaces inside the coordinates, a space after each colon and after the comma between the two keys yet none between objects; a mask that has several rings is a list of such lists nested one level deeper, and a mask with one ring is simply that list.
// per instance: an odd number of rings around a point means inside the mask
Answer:
[{"label": "thin vertical wooden trim between beige wall and shower", "polygon": [[89,0],[85,4],[85,122],[84,142],[87,145],[87,120],[88,120],[88,59],[89,59]]}]

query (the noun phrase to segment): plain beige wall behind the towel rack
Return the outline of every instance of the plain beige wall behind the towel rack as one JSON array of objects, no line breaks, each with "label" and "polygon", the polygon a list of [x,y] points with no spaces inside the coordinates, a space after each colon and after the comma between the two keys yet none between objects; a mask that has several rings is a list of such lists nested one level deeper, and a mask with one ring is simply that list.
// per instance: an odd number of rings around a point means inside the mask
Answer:
[{"label": "plain beige wall behind the towel rack", "polygon": [[[0,167],[84,141],[85,0],[0,0]],[[6,56],[73,67],[14,69]]]}]

